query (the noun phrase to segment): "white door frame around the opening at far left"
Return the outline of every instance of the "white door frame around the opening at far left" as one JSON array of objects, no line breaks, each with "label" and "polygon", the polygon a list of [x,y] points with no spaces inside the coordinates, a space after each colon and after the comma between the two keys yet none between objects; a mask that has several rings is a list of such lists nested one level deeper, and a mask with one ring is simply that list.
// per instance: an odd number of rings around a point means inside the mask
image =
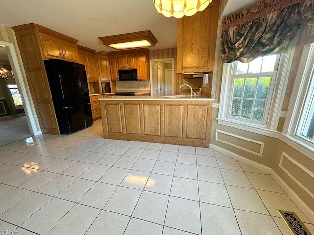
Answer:
[{"label": "white door frame around the opening at far left", "polygon": [[32,110],[35,110],[35,107],[33,106],[32,102],[30,102],[29,97],[27,96],[26,92],[26,83],[27,81],[23,80],[22,72],[19,66],[19,61],[16,55],[16,51],[14,48],[14,45],[12,43],[0,41],[0,45],[5,46],[6,53],[8,54],[9,61],[11,68],[14,72],[14,78],[15,82],[18,85],[19,92],[22,95],[22,101],[23,101],[23,108],[25,112],[25,116],[27,119],[27,124],[29,127],[30,134],[32,136],[41,135],[41,130],[37,129],[38,118],[36,113],[32,112]]}]

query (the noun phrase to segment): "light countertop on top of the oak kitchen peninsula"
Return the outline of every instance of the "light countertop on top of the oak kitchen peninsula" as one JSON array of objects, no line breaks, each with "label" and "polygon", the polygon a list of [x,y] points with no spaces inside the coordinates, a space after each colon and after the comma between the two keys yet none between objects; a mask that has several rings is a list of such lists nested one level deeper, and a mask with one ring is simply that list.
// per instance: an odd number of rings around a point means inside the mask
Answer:
[{"label": "light countertop on top of the oak kitchen peninsula", "polygon": [[98,100],[164,100],[164,101],[214,101],[203,95],[172,95],[172,96],[108,96]]}]

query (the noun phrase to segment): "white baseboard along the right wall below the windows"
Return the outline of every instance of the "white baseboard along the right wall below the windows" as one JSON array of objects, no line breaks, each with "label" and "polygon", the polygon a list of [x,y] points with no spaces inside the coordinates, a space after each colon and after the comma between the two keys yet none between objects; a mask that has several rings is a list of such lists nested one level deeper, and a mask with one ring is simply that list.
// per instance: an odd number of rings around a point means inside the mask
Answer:
[{"label": "white baseboard along the right wall below the windows", "polygon": [[297,205],[297,207],[305,214],[305,216],[310,220],[312,224],[314,224],[314,211],[312,211],[302,200],[301,198],[288,186],[288,184],[280,178],[279,175],[272,169],[265,165],[259,164],[257,162],[254,162],[250,159],[247,159],[245,157],[242,157],[238,154],[235,154],[229,150],[226,150],[224,148],[218,147],[216,145],[210,144],[209,148],[220,152],[222,154],[225,154],[227,156],[230,156],[231,158],[234,158],[235,160],[238,160],[242,163],[248,164],[250,166],[253,166],[259,170],[264,171],[265,173],[268,173],[273,177],[273,179],[276,181],[276,183],[285,191],[285,193],[290,197],[290,199]]}]

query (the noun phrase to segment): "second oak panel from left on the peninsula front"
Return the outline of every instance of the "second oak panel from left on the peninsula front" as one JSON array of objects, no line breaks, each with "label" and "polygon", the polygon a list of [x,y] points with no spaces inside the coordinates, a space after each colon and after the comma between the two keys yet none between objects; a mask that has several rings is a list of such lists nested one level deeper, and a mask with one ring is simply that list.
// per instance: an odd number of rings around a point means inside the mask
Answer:
[{"label": "second oak panel from left on the peninsula front", "polygon": [[139,104],[124,104],[126,134],[141,134],[141,118]]}]

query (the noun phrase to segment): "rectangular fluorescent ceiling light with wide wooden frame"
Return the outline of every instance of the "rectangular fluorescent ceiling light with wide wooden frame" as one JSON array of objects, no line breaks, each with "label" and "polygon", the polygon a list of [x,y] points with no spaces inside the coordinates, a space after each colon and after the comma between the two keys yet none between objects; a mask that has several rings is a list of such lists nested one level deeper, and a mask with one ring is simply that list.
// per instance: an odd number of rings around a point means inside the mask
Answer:
[{"label": "rectangular fluorescent ceiling light with wide wooden frame", "polygon": [[152,47],[158,42],[150,30],[99,37],[104,45],[116,50]]}]

